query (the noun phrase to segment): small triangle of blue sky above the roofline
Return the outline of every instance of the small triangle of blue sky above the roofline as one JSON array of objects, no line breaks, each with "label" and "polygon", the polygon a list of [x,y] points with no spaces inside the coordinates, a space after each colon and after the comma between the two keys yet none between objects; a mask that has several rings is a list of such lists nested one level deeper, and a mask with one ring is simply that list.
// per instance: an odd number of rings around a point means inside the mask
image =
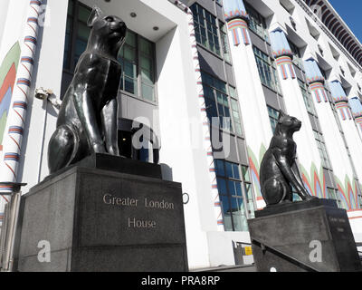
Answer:
[{"label": "small triangle of blue sky above the roofline", "polygon": [[329,0],[362,43],[362,0]]}]

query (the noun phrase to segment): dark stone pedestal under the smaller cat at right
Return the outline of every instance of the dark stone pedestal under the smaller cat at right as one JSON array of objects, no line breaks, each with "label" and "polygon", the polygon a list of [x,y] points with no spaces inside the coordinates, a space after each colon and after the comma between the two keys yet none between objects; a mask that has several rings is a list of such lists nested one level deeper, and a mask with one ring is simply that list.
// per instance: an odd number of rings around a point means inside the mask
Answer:
[{"label": "dark stone pedestal under the smaller cat at right", "polygon": [[248,221],[260,272],[362,271],[347,212],[334,200],[268,207]]}]

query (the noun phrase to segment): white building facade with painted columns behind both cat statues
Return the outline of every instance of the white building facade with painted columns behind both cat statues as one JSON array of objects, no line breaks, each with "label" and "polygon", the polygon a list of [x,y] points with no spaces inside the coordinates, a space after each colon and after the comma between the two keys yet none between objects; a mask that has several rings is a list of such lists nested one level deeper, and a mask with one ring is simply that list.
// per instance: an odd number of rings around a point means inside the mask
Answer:
[{"label": "white building facade with painted columns behind both cat statues", "polygon": [[[362,45],[327,0],[1,1],[0,182],[26,192],[48,175],[57,109],[35,89],[62,98],[93,5],[129,26],[119,144],[182,183],[191,269],[234,265],[233,247],[250,243],[280,111],[303,123],[306,189],[348,210],[362,242]],[[152,129],[153,150],[132,148],[132,121]]]}]

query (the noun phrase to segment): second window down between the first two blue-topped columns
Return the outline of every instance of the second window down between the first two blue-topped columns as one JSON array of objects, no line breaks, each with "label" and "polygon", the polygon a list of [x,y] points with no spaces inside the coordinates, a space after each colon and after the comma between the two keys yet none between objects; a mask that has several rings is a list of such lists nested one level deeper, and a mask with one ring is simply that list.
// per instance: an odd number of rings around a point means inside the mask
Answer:
[{"label": "second window down between the first two blue-topped columns", "polygon": [[262,53],[256,46],[252,48],[262,83],[271,90],[281,93],[281,85],[274,61],[267,54]]}]

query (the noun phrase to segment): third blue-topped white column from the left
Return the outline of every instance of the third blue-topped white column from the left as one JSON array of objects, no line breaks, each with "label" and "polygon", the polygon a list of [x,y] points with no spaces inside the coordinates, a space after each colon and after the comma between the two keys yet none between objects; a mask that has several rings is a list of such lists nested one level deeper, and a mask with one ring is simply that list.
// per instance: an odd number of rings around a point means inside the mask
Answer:
[{"label": "third blue-topped white column from the left", "polygon": [[[340,199],[346,208],[354,204],[355,194],[349,194],[351,181],[354,180],[352,164],[348,159],[348,151],[339,131],[338,121],[330,106],[328,93],[325,89],[325,79],[319,70],[318,63],[310,58],[304,62],[307,82],[310,85],[312,100],[317,111],[323,138],[329,152],[335,181],[338,184]],[[327,191],[327,190],[326,190]],[[326,197],[328,197],[326,195]]]}]

